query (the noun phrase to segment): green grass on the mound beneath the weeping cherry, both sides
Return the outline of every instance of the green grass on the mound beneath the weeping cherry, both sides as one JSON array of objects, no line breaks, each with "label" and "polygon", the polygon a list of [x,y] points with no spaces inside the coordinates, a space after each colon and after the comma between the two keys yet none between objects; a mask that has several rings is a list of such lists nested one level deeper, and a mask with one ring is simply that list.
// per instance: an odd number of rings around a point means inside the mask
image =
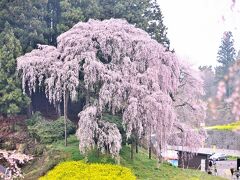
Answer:
[{"label": "green grass on the mound beneath the weeping cherry, both sides", "polygon": [[[68,146],[64,146],[63,141],[55,142],[48,146],[49,151],[56,152],[55,156],[62,156],[62,159],[59,159],[59,162],[68,161],[68,160],[85,160],[88,163],[115,163],[115,160],[111,158],[110,155],[97,155],[96,151],[91,151],[87,158],[79,153],[78,149],[78,140],[75,136],[70,136],[68,138]],[[130,168],[134,174],[137,176],[137,179],[144,180],[221,180],[222,178],[216,176],[210,176],[206,173],[200,172],[198,170],[189,170],[189,169],[180,169],[173,167],[167,163],[160,164],[157,167],[157,160],[155,158],[148,159],[147,151],[140,148],[139,153],[134,154],[134,160],[130,158],[130,148],[124,146],[121,150],[121,165]],[[54,156],[50,159],[50,162],[54,161]],[[56,162],[51,164],[49,161],[43,161],[41,167],[56,165]],[[37,165],[39,165],[37,163]],[[32,167],[34,169],[34,167]],[[44,168],[45,172],[42,170],[41,175],[46,173],[52,168],[51,166]],[[37,171],[37,170],[35,170]],[[38,173],[39,174],[39,173]],[[30,173],[30,175],[32,175]],[[27,176],[27,179],[31,179],[31,176]],[[32,177],[36,177],[32,176]],[[34,178],[32,178],[34,179]]]}]

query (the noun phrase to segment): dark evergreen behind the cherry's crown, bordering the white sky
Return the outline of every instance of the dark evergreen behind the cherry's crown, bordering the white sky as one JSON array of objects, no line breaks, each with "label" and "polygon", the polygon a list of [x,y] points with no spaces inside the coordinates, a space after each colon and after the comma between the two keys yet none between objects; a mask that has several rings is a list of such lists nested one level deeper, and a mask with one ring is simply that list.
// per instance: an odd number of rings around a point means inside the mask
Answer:
[{"label": "dark evergreen behind the cherry's crown, bordering the white sky", "polygon": [[[163,15],[156,0],[96,0],[100,7],[98,19],[124,18],[147,31],[152,38],[163,44],[167,49],[170,41],[167,27],[163,23]],[[86,20],[91,17],[86,17]]]}]

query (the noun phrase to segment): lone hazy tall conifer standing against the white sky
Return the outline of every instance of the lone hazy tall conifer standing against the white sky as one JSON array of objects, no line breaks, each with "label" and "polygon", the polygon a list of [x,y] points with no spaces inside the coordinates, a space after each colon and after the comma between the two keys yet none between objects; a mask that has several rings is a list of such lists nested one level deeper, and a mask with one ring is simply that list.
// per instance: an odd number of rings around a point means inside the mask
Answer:
[{"label": "lone hazy tall conifer standing against the white sky", "polygon": [[232,32],[228,31],[223,34],[221,45],[218,50],[217,62],[220,64],[216,67],[216,81],[220,80],[226,81],[227,93],[226,96],[229,96],[231,92],[231,85],[228,83],[228,70],[235,62],[236,51],[234,49],[234,39]]}]

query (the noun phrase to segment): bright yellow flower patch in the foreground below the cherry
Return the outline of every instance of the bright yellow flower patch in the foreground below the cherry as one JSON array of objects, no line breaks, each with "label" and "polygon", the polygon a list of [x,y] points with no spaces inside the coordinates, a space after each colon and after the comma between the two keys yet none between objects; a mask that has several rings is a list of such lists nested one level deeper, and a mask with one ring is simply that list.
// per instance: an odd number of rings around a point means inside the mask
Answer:
[{"label": "bright yellow flower patch in the foreground below the cherry", "polygon": [[82,161],[69,161],[57,165],[53,170],[49,171],[47,175],[40,178],[40,180],[135,180],[130,169],[112,164],[86,164]]}]

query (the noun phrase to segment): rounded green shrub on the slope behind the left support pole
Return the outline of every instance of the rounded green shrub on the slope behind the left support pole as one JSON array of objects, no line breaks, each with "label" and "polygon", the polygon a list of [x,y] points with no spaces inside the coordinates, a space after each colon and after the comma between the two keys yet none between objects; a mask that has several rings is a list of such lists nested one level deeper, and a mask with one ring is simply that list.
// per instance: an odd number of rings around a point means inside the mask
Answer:
[{"label": "rounded green shrub on the slope behind the left support pole", "polygon": [[[51,143],[64,138],[64,118],[60,117],[55,121],[47,121],[38,115],[27,121],[28,130],[33,138],[41,143]],[[76,127],[67,120],[67,134],[75,133]]]}]

